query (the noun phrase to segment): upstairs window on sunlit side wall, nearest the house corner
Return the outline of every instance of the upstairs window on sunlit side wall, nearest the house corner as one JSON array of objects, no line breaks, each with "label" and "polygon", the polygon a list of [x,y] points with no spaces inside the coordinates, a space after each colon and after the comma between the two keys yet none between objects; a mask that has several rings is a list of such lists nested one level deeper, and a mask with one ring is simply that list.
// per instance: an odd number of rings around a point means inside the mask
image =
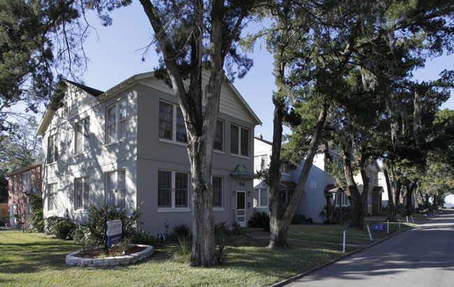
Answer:
[{"label": "upstairs window on sunlit side wall, nearest the house corner", "polygon": [[105,130],[106,144],[126,138],[126,100],[107,108]]}]

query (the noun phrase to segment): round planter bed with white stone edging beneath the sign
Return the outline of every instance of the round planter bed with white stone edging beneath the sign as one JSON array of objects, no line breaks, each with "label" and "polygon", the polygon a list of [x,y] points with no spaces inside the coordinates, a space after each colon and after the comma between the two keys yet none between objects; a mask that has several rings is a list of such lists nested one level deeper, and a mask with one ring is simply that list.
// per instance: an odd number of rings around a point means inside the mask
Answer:
[{"label": "round planter bed with white stone edging beneath the sign", "polygon": [[98,247],[90,252],[75,251],[68,254],[66,256],[66,264],[78,267],[128,265],[148,258],[153,253],[153,246],[134,244],[128,253],[121,253],[113,247],[109,249],[108,255],[105,256],[103,247]]}]

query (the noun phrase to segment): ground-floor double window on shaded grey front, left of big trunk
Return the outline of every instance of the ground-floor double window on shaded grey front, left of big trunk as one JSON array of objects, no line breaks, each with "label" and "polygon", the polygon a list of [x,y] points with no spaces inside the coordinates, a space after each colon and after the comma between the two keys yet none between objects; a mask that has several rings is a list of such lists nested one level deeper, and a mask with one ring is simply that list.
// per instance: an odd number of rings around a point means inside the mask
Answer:
[{"label": "ground-floor double window on shaded grey front, left of big trunk", "polygon": [[187,172],[158,170],[158,208],[189,207]]}]

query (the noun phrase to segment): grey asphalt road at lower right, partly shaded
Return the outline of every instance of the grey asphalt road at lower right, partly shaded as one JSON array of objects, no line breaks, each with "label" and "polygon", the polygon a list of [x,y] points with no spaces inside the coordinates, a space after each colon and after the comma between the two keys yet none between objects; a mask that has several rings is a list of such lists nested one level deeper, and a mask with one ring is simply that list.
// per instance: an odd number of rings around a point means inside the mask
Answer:
[{"label": "grey asphalt road at lower right, partly shaded", "polygon": [[445,211],[288,286],[454,286],[454,211]]}]

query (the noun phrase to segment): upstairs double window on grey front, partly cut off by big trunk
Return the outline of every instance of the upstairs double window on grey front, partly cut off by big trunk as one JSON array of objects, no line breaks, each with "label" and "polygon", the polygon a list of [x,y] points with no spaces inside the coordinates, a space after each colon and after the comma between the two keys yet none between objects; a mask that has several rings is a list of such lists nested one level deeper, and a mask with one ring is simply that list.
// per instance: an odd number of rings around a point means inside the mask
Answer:
[{"label": "upstairs double window on grey front, partly cut off by big trunk", "polygon": [[171,103],[159,102],[159,138],[188,142],[182,109]]}]

